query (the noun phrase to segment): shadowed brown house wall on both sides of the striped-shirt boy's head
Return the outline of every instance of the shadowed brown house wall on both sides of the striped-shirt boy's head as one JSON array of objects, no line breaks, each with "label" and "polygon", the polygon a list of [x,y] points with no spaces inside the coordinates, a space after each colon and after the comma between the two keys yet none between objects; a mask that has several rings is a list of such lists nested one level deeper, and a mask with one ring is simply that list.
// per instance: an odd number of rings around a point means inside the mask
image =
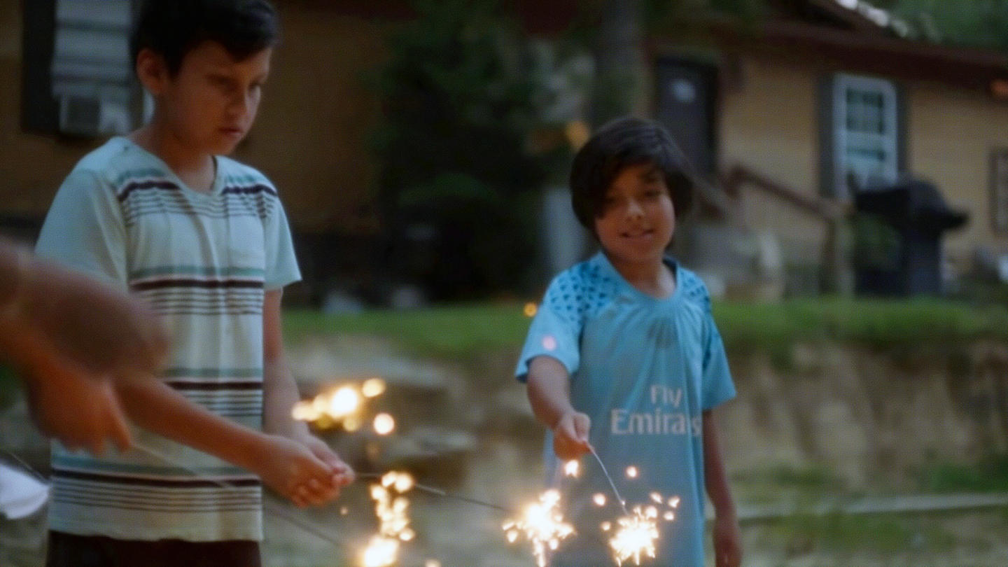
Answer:
[{"label": "shadowed brown house wall on both sides of the striped-shirt boy's head", "polygon": [[[386,28],[319,3],[277,4],[283,40],[235,157],[273,180],[296,229],[371,230],[367,140],[380,111],[364,73],[385,56]],[[21,131],[21,27],[20,0],[0,0],[0,216],[40,219],[64,177],[104,140]]]}]

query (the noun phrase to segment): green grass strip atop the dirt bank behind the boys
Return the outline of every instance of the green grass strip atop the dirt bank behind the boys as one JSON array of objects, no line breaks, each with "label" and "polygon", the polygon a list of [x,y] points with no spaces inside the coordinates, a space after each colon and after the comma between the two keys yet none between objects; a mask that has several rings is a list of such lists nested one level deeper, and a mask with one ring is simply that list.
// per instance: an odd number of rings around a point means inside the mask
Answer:
[{"label": "green grass strip atop the dirt bank behind the boys", "polygon": [[[517,303],[438,306],[411,311],[325,315],[288,310],[286,337],[364,334],[410,352],[465,356],[520,348],[529,319]],[[729,352],[775,350],[796,341],[837,341],[874,348],[1008,341],[1008,309],[940,300],[796,300],[779,304],[717,303],[715,320]]]}]

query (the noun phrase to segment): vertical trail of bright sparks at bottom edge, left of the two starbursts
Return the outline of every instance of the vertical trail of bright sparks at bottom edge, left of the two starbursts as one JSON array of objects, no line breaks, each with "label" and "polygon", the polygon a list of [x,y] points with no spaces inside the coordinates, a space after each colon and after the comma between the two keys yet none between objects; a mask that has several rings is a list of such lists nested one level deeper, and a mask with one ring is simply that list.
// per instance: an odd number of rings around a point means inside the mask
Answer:
[{"label": "vertical trail of bright sparks at bottom edge, left of the two starbursts", "polygon": [[363,567],[391,567],[398,559],[399,543],[416,537],[409,528],[409,500],[402,495],[414,485],[412,476],[394,470],[371,485],[371,499],[375,501],[379,524],[378,533],[361,554]]}]

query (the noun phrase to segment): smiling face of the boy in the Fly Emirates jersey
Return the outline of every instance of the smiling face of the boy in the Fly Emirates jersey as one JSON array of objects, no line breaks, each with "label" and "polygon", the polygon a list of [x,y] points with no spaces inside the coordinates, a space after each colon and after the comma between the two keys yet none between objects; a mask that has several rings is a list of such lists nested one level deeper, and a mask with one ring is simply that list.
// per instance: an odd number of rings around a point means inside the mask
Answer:
[{"label": "smiling face of the boy in the Fly Emirates jersey", "polygon": [[595,233],[615,262],[661,262],[675,230],[675,209],[661,169],[624,167],[610,184]]}]

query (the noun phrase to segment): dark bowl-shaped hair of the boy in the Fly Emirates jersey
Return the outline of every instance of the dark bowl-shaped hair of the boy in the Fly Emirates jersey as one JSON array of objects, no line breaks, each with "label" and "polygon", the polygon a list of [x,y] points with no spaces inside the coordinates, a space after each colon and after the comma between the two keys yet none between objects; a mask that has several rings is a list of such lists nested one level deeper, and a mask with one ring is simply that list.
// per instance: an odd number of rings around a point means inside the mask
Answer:
[{"label": "dark bowl-shaped hair of the boy in the Fly Emirates jersey", "polygon": [[624,167],[640,163],[653,163],[664,175],[676,217],[689,210],[691,167],[672,136],[649,120],[617,118],[599,128],[574,157],[571,204],[581,224],[595,232],[610,184]]}]

